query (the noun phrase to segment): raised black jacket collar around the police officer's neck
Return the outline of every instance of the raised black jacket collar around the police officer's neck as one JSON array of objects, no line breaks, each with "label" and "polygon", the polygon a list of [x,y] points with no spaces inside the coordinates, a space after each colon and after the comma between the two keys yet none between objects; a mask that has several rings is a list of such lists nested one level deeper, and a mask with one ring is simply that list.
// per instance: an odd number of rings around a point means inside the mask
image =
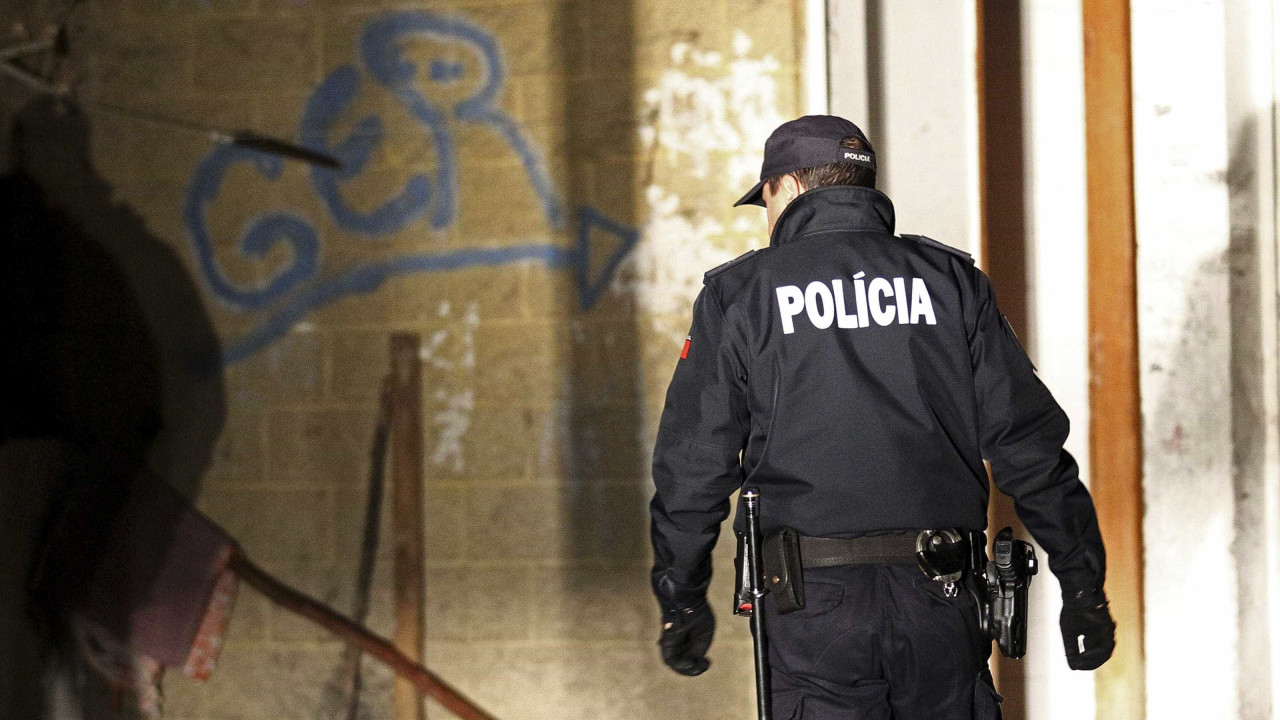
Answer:
[{"label": "raised black jacket collar around the police officer's neck", "polygon": [[870,187],[836,184],[800,193],[773,227],[771,246],[823,231],[893,234],[893,202]]}]

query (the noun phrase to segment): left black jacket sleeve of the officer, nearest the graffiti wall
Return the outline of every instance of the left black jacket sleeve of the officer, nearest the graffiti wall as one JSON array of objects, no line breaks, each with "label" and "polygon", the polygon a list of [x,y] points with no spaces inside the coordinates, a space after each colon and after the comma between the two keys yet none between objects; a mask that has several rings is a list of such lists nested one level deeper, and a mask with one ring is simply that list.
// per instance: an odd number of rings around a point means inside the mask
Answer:
[{"label": "left black jacket sleeve of the officer, nearest the graffiti wall", "polygon": [[676,365],[653,454],[653,591],[663,611],[700,603],[728,498],[742,484],[750,425],[746,348],[712,287],[694,302],[686,352]]}]

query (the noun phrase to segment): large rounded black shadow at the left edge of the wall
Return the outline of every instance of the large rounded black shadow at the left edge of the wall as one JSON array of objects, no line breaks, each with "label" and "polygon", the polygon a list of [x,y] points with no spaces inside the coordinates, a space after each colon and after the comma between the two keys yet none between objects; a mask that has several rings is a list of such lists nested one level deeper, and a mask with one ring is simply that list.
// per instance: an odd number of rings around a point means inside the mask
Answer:
[{"label": "large rounded black shadow at the left edge of the wall", "polygon": [[[79,536],[104,536],[143,468],[196,498],[225,415],[219,342],[196,286],[111,199],[90,133],[70,108],[28,105],[14,123],[15,172],[0,181],[4,720],[128,716],[65,624],[32,601],[33,562],[68,507],[79,509]],[[83,577],[101,546],[79,548],[60,566]],[[134,610],[93,602],[116,619]]]}]

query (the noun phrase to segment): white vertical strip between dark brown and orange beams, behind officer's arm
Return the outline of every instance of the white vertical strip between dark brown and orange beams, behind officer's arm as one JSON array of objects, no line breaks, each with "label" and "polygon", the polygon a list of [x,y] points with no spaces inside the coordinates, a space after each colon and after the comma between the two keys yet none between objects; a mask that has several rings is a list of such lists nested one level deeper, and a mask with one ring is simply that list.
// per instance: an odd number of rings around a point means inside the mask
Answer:
[{"label": "white vertical strip between dark brown and orange beams, behind officer's arm", "polygon": [[[1023,0],[1025,88],[1028,348],[1039,377],[1071,419],[1068,451],[1089,479],[1088,245],[1084,154],[1084,47],[1080,0]],[[1043,551],[1041,551],[1043,559]],[[1047,565],[1044,565],[1047,568]],[[1061,591],[1052,573],[1032,585],[1028,720],[1096,714],[1093,674],[1074,673],[1059,632]]]}]

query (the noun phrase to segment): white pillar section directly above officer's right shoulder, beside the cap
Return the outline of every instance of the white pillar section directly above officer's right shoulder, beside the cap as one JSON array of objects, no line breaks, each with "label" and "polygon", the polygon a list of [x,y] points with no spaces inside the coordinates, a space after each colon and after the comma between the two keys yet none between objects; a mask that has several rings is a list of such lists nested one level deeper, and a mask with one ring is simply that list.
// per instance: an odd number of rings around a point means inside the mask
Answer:
[{"label": "white pillar section directly above officer's right shoulder, beside the cap", "polygon": [[980,227],[974,1],[831,0],[828,10],[832,111],[868,128],[899,231],[970,252]]}]

